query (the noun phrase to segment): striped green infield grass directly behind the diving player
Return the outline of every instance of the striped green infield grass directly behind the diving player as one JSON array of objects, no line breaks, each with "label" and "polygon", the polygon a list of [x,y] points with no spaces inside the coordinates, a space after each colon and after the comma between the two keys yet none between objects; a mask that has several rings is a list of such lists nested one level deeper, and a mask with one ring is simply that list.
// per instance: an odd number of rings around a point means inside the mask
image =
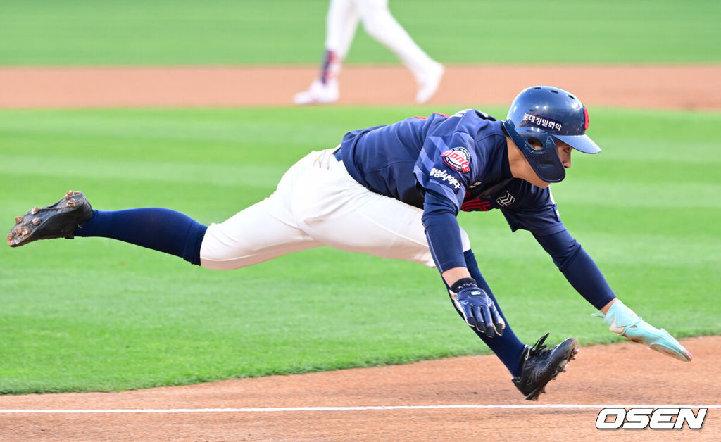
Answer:
[{"label": "striped green infield grass directly behind the diving player", "polygon": [[[222,221],[270,194],[309,149],[417,113],[0,111],[0,220],[10,229],[14,216],[73,189],[99,209],[162,206]],[[562,219],[616,293],[679,337],[721,332],[720,124],[719,113],[595,110],[590,134],[604,151],[577,153],[567,180],[553,186]],[[523,340],[547,331],[553,342],[619,340],[530,234],[511,234],[497,212],[463,214],[461,225]],[[410,262],[324,247],[213,272],[110,239],[0,247],[0,262],[0,393],[487,353],[435,270]]]}]

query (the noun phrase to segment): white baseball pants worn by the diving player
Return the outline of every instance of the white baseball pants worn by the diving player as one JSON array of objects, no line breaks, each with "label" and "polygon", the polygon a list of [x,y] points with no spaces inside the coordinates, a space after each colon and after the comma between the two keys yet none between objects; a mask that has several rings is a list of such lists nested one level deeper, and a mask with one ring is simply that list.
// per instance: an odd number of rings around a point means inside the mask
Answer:
[{"label": "white baseball pants worn by the diving player", "polygon": [[[200,265],[231,270],[329,245],[435,267],[423,211],[366,189],[333,151],[311,152],[288,169],[273,195],[208,226]],[[461,238],[464,250],[470,249],[463,229]]]}]

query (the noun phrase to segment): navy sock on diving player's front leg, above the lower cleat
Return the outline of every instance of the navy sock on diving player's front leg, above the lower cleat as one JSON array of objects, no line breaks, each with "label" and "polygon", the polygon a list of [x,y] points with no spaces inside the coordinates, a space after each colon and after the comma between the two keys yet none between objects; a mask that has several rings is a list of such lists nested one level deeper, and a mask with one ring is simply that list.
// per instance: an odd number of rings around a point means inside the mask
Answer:
[{"label": "navy sock on diving player's front leg, above the lower cleat", "polygon": [[521,355],[523,354],[523,349],[526,348],[526,345],[518,340],[516,334],[513,333],[513,330],[511,330],[508,320],[505,319],[505,316],[503,316],[503,311],[501,311],[495,296],[493,296],[493,293],[488,286],[488,283],[486,283],[486,280],[481,275],[480,270],[478,270],[478,263],[476,262],[476,257],[473,255],[473,252],[471,250],[467,250],[463,255],[466,258],[466,267],[471,273],[471,277],[476,280],[476,283],[480,288],[488,293],[490,299],[492,299],[493,303],[496,304],[498,313],[500,313],[505,321],[505,329],[503,329],[502,336],[487,337],[485,333],[479,332],[475,328],[472,328],[472,330],[476,332],[476,335],[478,335],[483,342],[485,342],[485,345],[488,345],[488,348],[493,350],[493,353],[495,353],[500,361],[503,362],[503,365],[508,368],[510,374],[513,376],[521,376]]}]

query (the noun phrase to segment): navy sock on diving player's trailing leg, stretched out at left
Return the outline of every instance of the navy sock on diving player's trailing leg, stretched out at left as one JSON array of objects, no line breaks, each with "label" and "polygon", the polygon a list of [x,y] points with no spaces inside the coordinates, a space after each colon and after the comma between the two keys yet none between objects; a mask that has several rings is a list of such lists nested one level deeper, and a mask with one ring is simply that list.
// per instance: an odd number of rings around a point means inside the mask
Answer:
[{"label": "navy sock on diving player's trailing leg, stretched out at left", "polygon": [[200,244],[207,226],[167,208],[93,211],[76,237],[104,237],[169,253],[200,265]]}]

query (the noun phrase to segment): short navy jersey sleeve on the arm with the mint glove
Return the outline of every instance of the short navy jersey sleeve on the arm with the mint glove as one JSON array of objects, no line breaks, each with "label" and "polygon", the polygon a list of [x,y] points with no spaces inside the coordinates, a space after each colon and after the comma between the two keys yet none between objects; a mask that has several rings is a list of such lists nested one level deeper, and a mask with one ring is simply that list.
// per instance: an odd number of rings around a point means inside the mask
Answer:
[{"label": "short navy jersey sleeve on the arm with the mint glove", "polygon": [[565,230],[551,188],[541,189],[530,183],[527,186],[532,188],[525,193],[526,201],[523,204],[515,204],[513,208],[501,208],[510,229],[528,230],[539,236]]}]

